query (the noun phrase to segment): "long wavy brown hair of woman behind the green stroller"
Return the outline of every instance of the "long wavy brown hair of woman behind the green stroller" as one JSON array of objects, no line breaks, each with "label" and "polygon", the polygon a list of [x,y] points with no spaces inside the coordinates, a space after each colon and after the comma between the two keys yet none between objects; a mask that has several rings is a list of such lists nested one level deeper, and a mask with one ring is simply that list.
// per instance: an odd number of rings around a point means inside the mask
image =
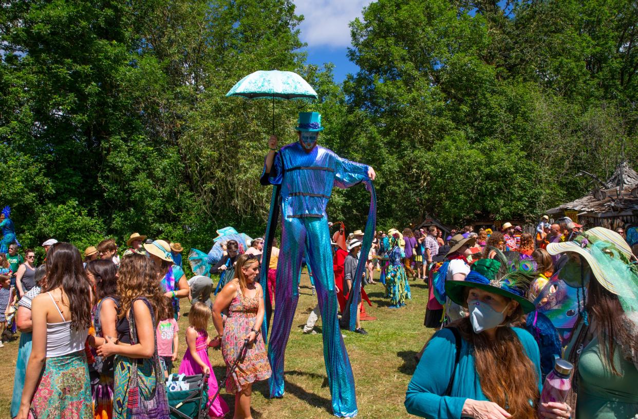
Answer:
[{"label": "long wavy brown hair of woman behind the green stroller", "polygon": [[137,253],[130,255],[122,259],[117,273],[117,294],[120,296],[121,304],[120,318],[126,316],[133,300],[138,297],[144,297],[151,303],[155,327],[160,319],[168,317],[164,292],[151,258]]}]

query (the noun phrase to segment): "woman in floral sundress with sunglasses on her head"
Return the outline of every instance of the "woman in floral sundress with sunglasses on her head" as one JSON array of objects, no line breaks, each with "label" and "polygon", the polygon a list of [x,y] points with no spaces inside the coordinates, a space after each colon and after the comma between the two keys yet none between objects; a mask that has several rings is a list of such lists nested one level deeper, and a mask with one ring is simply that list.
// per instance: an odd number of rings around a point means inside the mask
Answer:
[{"label": "woman in floral sundress with sunglasses on her head", "polygon": [[[227,283],[215,299],[212,321],[221,339],[221,353],[226,368],[235,363],[248,339],[244,359],[226,380],[226,392],[235,394],[235,419],[250,418],[250,396],[253,382],[271,376],[271,366],[266,357],[260,330],[263,320],[263,290],[255,279],[259,263],[254,255],[244,254],[237,258],[237,278]],[[228,318],[223,323],[221,312],[228,309]]]}]

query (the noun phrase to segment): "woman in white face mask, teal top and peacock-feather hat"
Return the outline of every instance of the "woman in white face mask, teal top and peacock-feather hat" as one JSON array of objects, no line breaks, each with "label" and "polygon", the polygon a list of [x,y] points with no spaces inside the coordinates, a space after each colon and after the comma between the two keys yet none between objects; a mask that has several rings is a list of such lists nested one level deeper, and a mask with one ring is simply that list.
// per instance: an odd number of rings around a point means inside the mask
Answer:
[{"label": "woman in white face mask, teal top and peacock-feather hat", "polygon": [[470,315],[434,334],[408,385],[408,413],[429,419],[536,419],[538,346],[510,327],[534,306],[524,298],[531,276],[510,271],[503,255],[481,259],[447,296]]}]

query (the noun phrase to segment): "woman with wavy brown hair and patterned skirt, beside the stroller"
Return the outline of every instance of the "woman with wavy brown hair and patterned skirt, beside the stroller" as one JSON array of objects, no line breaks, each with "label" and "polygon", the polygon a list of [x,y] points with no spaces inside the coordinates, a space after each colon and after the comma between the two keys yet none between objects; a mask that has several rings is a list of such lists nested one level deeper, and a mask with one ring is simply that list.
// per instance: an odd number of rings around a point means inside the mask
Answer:
[{"label": "woman with wavy brown hair and patterned skirt, beside the stroller", "polygon": [[[120,300],[117,339],[106,336],[97,353],[101,357],[115,355],[113,418],[126,419],[134,363],[137,364],[139,397],[149,399],[156,394],[156,388],[165,385],[164,373],[158,371],[161,367],[155,348],[155,331],[158,319],[165,318],[167,310],[156,267],[149,257],[133,254],[122,259],[117,271],[117,294]],[[131,320],[135,322],[137,339],[131,336]],[[159,394],[165,395],[165,392]]]}]

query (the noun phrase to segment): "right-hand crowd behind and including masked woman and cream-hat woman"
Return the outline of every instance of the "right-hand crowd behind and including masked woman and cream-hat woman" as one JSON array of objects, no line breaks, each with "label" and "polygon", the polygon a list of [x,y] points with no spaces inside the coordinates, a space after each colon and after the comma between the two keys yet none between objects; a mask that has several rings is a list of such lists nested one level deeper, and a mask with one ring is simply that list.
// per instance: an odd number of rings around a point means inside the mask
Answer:
[{"label": "right-hand crowd behind and including masked woman and cream-hat woman", "polygon": [[[638,417],[638,246],[632,245],[623,229],[583,231],[569,218],[549,223],[547,216],[535,236],[508,222],[500,231],[453,231],[427,268],[424,324],[440,330],[417,355],[408,413]],[[573,321],[561,330],[566,318]],[[543,380],[553,373],[571,380],[560,389],[564,397],[546,395],[551,385]]]}]

